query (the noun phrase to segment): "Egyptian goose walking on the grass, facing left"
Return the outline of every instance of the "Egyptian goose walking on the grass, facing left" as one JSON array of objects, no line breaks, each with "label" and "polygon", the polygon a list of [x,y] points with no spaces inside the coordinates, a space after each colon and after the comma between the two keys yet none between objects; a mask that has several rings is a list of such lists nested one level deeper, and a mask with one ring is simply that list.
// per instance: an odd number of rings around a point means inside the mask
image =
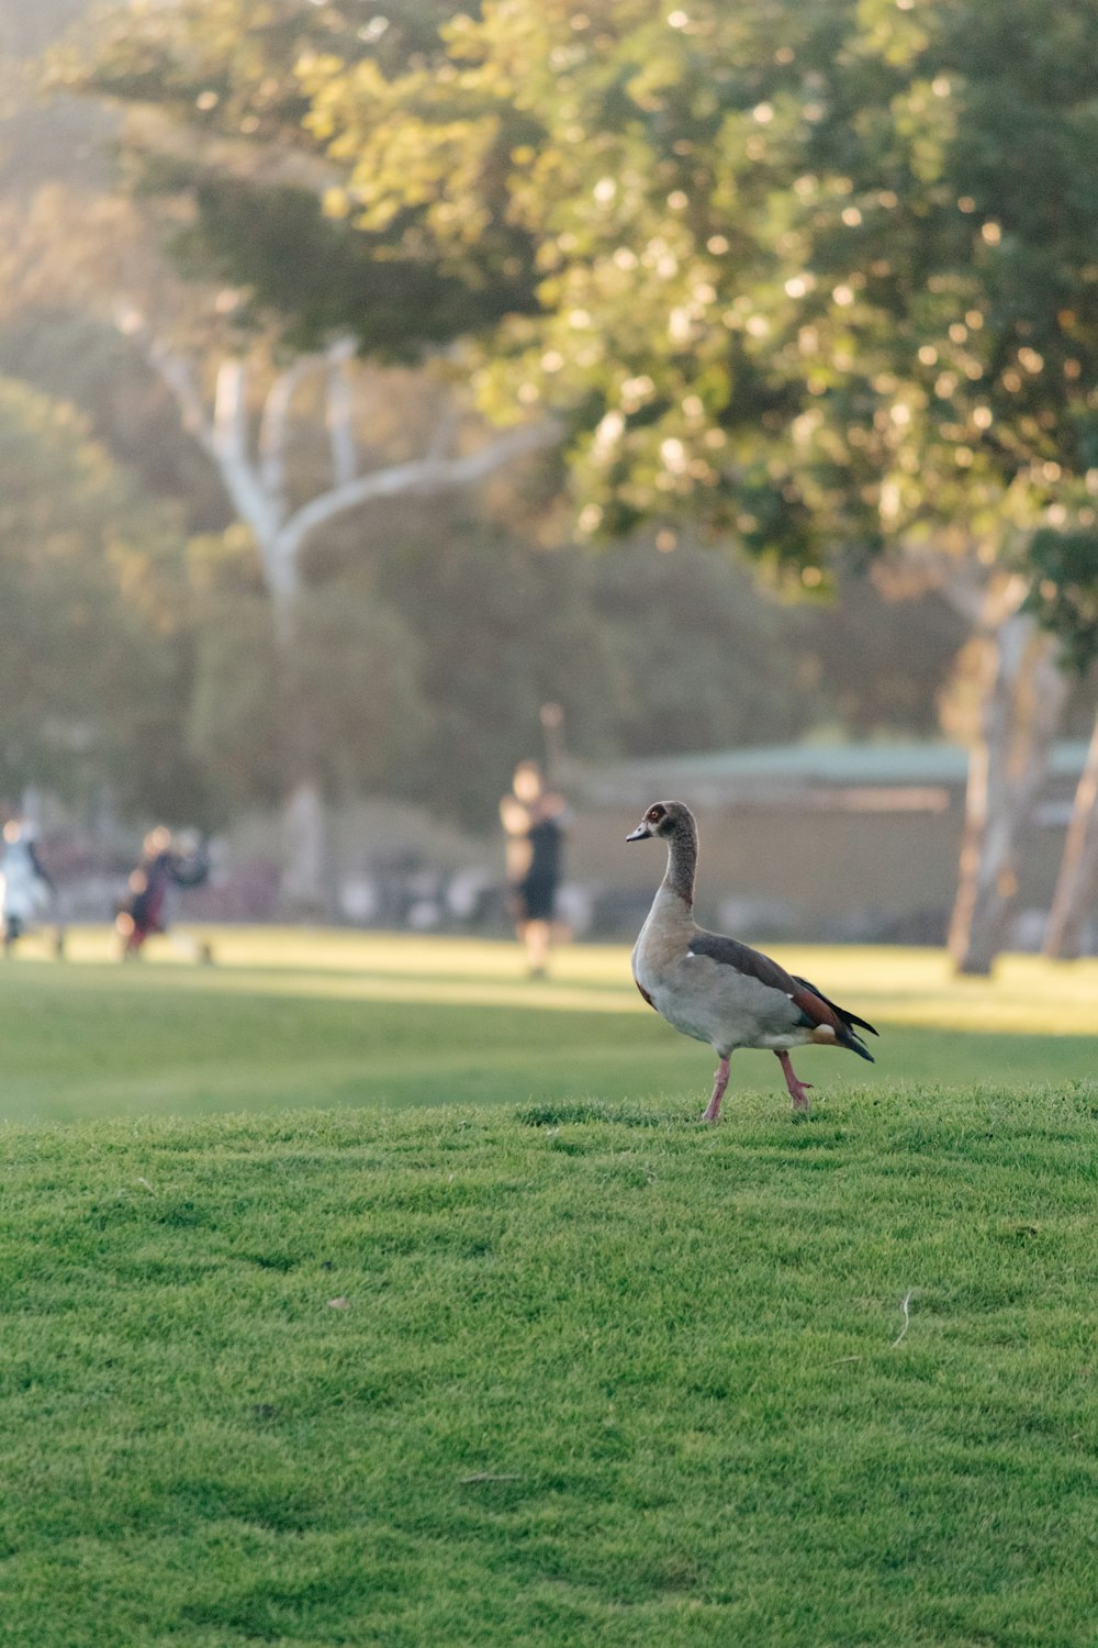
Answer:
[{"label": "Egyptian goose walking on the grass, facing left", "polygon": [[807,979],[798,979],[757,949],[693,918],[698,826],[682,801],[657,801],[627,840],[658,836],[667,842],[667,875],[632,953],[637,989],[657,1014],[719,1058],[713,1098],[701,1117],[714,1122],[728,1086],[728,1061],[737,1046],[777,1053],[795,1111],[808,1109],[812,1083],[798,1081],[789,1050],[815,1042],[844,1046],[872,1063],[854,1025],[877,1032],[864,1018],[836,1007]]}]

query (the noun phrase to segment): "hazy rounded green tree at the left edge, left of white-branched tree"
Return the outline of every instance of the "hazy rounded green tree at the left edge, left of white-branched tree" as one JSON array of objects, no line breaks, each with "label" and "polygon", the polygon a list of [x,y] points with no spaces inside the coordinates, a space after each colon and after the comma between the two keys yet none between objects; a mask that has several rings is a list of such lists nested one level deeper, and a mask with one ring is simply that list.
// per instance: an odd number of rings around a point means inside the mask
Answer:
[{"label": "hazy rounded green tree at the left edge, left of white-branched tree", "polygon": [[179,756],[183,537],[71,409],[0,379],[0,794],[26,784],[204,822]]}]

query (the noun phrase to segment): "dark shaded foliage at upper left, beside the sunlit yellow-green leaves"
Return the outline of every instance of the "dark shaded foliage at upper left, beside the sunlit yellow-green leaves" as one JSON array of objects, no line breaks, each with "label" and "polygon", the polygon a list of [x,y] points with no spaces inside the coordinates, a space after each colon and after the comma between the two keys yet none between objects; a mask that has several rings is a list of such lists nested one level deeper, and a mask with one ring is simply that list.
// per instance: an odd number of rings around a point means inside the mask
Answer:
[{"label": "dark shaded foliage at upper left, beside the sunlit yellow-green leaves", "polygon": [[183,150],[163,127],[130,130],[132,181],[145,196],[186,201],[170,241],[186,270],[239,285],[237,323],[262,325],[277,310],[291,348],[314,349],[339,330],[377,358],[407,359],[532,305],[525,239],[454,269],[405,247],[408,214],[364,236],[346,213],[324,213],[323,185],[342,171],[319,162],[301,68],[337,53],[344,64],[400,73],[438,48],[451,10],[416,0],[397,18],[362,21],[306,0],[120,7],[71,36],[49,79],[188,129]]}]

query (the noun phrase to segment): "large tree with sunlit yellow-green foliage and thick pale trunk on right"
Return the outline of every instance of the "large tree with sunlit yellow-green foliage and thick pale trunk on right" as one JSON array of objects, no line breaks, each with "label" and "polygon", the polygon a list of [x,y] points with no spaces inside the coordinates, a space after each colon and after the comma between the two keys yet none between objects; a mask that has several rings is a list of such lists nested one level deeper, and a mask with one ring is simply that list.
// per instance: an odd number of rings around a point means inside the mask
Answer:
[{"label": "large tree with sunlit yellow-green foliage and thick pale trunk on right", "polygon": [[900,545],[986,654],[951,949],[986,971],[1065,687],[1039,526],[1093,521],[1098,12],[1068,0],[486,5],[446,58],[305,64],[331,209],[540,313],[484,404],[570,430],[579,521],[695,516],[818,578]]}]

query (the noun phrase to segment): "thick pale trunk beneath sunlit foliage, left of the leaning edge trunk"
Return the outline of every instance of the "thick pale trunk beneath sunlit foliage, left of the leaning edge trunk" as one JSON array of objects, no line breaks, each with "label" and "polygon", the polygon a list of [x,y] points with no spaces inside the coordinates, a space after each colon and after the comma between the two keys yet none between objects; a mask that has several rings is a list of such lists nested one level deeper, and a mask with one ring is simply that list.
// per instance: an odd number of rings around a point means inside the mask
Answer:
[{"label": "thick pale trunk beneath sunlit foliage, left of the leaning edge trunk", "polygon": [[1029,613],[988,633],[979,737],[970,751],[965,839],[948,949],[958,972],[986,974],[1017,892],[1019,839],[1049,775],[1067,681],[1055,643]]}]

